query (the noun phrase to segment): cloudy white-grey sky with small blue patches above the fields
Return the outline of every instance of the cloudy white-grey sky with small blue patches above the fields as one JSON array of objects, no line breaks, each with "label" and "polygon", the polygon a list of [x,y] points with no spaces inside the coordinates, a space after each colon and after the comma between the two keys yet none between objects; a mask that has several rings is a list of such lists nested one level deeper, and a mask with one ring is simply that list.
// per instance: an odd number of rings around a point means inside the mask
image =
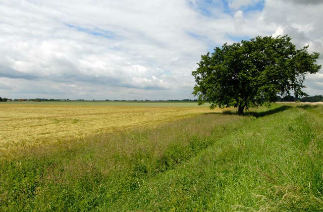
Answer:
[{"label": "cloudy white-grey sky with small blue patches above the fields", "polygon": [[[288,34],[323,64],[320,0],[0,0],[0,96],[184,99],[201,55]],[[323,70],[304,91],[323,94]]]}]

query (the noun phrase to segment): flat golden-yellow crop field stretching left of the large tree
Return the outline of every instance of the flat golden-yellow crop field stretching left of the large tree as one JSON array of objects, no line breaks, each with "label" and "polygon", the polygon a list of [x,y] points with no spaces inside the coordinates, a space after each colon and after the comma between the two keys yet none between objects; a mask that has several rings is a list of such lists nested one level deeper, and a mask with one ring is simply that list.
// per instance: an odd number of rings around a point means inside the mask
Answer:
[{"label": "flat golden-yellow crop field stretching left of the large tree", "polygon": [[[131,127],[155,126],[210,111],[207,107],[146,107],[88,104],[0,104],[0,153]],[[159,105],[156,103],[156,105]],[[172,106],[172,103],[169,103]],[[174,105],[177,105],[176,103]],[[181,105],[183,106],[183,105]]]}]

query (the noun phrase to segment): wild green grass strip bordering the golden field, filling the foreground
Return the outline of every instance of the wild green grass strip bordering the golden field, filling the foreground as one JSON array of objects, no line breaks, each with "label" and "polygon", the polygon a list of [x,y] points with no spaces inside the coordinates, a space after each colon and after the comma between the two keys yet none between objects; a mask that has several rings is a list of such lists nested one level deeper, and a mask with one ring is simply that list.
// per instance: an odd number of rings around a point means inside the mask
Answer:
[{"label": "wild green grass strip bordering the golden field, filling the foreground", "polygon": [[323,211],[323,107],[275,104],[0,163],[1,211]]}]

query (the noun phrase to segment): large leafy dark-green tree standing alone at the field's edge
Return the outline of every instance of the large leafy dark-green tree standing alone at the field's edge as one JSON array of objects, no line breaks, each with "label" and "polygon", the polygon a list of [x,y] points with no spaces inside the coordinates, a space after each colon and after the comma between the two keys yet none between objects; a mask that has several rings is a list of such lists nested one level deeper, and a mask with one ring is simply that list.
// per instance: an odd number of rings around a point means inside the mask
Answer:
[{"label": "large leafy dark-green tree standing alone at the field's edge", "polygon": [[301,90],[305,74],[321,68],[315,64],[319,53],[309,54],[307,49],[296,49],[288,35],[225,43],[201,56],[192,72],[193,94],[199,104],[209,102],[211,109],[236,107],[239,115],[245,109],[275,102],[278,94],[293,91],[297,98],[306,96]]}]

